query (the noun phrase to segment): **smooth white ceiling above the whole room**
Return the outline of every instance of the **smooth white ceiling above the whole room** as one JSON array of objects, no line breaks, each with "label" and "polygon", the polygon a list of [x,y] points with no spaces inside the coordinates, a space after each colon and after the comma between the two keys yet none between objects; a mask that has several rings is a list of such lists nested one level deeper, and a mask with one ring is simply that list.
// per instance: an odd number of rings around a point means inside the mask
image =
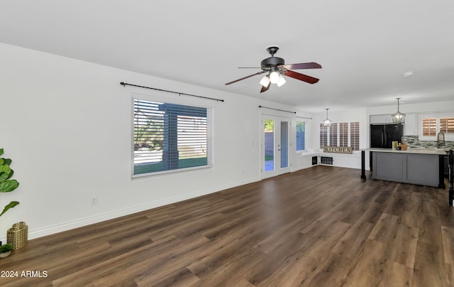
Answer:
[{"label": "smooth white ceiling above the whole room", "polygon": [[[452,0],[2,0],[0,42],[308,112],[454,99]],[[259,72],[238,67],[260,67],[270,45],[321,64],[297,70],[320,81],[224,85]]]}]

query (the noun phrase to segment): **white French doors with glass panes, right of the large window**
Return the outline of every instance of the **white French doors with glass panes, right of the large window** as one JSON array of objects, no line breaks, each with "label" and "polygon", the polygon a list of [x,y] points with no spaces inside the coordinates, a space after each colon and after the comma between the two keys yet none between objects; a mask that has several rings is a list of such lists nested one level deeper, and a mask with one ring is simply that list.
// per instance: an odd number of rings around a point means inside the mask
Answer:
[{"label": "white French doors with glass panes, right of the large window", "polygon": [[262,178],[290,172],[290,119],[262,115]]}]

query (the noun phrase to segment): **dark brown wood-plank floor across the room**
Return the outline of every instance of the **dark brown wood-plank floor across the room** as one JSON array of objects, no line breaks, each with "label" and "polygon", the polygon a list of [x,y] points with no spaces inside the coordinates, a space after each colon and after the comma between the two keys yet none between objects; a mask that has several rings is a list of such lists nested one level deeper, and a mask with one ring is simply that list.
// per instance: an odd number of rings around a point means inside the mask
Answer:
[{"label": "dark brown wood-plank floor across the room", "polygon": [[454,286],[454,208],[448,188],[316,166],[33,239],[0,271],[19,272],[1,286]]}]

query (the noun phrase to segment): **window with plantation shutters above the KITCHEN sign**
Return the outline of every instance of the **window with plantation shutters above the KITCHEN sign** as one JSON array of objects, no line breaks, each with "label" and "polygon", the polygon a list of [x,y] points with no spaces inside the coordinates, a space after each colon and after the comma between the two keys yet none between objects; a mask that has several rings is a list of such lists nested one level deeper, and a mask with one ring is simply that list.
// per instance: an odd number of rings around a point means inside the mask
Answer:
[{"label": "window with plantation shutters above the KITCHEN sign", "polygon": [[359,151],[360,123],[358,121],[332,123],[329,127],[320,124],[320,148],[323,146],[351,146],[353,151]]}]

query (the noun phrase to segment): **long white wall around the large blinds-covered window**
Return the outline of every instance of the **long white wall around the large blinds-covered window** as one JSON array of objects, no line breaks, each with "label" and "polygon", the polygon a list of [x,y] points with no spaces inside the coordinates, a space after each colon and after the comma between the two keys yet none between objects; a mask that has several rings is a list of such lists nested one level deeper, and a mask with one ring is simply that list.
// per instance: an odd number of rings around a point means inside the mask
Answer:
[{"label": "long white wall around the large blinds-covered window", "polygon": [[[1,43],[0,63],[0,148],[20,183],[0,207],[21,202],[0,217],[0,240],[19,221],[33,239],[260,180],[258,106],[292,109]],[[224,99],[209,102],[214,168],[132,180],[131,93],[157,92],[120,82]]]}]

